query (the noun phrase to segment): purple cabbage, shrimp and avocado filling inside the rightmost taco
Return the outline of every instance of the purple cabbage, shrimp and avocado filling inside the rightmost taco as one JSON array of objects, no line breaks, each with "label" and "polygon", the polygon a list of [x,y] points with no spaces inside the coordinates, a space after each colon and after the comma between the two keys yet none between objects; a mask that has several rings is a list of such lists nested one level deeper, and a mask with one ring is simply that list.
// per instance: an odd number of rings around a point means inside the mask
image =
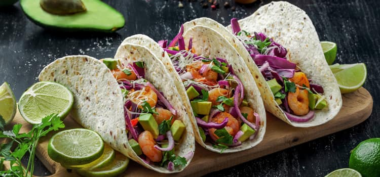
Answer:
[{"label": "purple cabbage, shrimp and avocado filling inside the rightmost taco", "polygon": [[287,50],[261,32],[250,34],[240,29],[236,18],[231,20],[233,33],[243,43],[258,66],[287,117],[306,122],[314,117],[313,110],[327,109],[323,87],[308,79],[295,63],[287,60]]}]

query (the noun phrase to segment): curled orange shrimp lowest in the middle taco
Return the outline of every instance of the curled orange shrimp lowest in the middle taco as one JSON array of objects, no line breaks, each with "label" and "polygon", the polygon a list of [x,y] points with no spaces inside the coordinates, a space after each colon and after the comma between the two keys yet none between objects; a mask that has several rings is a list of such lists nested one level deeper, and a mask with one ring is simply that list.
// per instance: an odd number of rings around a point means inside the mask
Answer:
[{"label": "curled orange shrimp lowest in the middle taco", "polygon": [[[225,125],[224,128],[225,130],[227,130],[227,132],[229,132],[230,135],[235,136],[237,132],[239,131],[240,126],[239,126],[238,120],[231,114],[226,113],[226,112],[221,112],[215,117],[211,118],[211,121],[216,122],[216,123],[221,123],[226,117],[229,118],[229,121],[227,122],[227,125]],[[215,128],[210,128],[209,130],[211,133],[210,136],[214,136],[215,138],[218,138],[218,136],[214,134],[215,130],[216,130]]]}]

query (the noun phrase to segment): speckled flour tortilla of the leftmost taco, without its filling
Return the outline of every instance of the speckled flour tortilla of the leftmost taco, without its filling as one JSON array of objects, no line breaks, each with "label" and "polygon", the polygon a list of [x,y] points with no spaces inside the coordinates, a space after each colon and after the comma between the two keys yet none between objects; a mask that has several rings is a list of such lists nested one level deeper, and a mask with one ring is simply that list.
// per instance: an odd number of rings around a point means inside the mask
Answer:
[{"label": "speckled flour tortilla of the leftmost taco, without its filling", "polygon": [[[151,56],[146,49],[137,51],[138,48],[137,46],[128,51],[128,53],[135,53],[134,57],[137,58],[140,55],[139,53],[142,52],[144,57],[139,61],[143,61],[146,66],[154,66],[145,67],[145,78],[154,84],[159,91],[163,92],[167,100],[177,110],[178,119],[189,126],[191,123],[188,121],[187,114],[183,111],[184,108],[176,104],[178,102],[178,99],[176,99],[178,98],[178,93],[176,95],[175,92],[166,92],[163,89],[165,85],[173,85],[173,81],[167,79],[165,80],[166,83],[163,83],[161,78],[165,75],[165,72],[149,69],[159,68],[160,61]],[[119,50],[121,51],[119,53],[123,54],[125,50],[126,48],[123,48]],[[127,63],[127,61],[122,62]],[[163,68],[163,66],[161,67]],[[113,149],[146,168],[158,172],[173,173],[183,170],[184,167],[169,171],[160,166],[146,164],[132,150],[125,132],[123,95],[118,82],[101,61],[89,56],[66,56],[46,66],[40,73],[39,79],[41,81],[55,81],[67,86],[74,95],[74,106],[70,112],[71,117],[83,127],[98,132],[104,142]],[[186,128],[181,143],[175,148],[176,154],[180,156],[184,156],[188,152],[194,152],[195,141],[191,128]],[[191,158],[187,164],[189,164]]]}]

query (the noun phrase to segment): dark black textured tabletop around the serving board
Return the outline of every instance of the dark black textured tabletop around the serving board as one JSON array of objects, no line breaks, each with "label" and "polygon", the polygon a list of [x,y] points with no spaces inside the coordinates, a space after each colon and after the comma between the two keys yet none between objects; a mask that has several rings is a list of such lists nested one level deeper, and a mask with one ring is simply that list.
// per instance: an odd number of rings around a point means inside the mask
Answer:
[{"label": "dark black textured tabletop around the serving board", "polygon": [[[37,0],[36,0],[37,1]],[[112,57],[127,36],[142,33],[150,37],[171,39],[180,24],[197,17],[211,17],[227,25],[233,17],[249,16],[270,1],[236,5],[236,11],[211,10],[197,2],[183,1],[183,9],[173,0],[105,1],[126,18],[123,29],[113,34],[60,33],[46,31],[30,22],[19,4],[0,9],[0,83],[10,83],[18,99],[24,90],[37,81],[37,75],[48,63],[66,55]],[[230,1],[229,1],[230,2]],[[374,100],[373,113],[363,123],[287,150],[274,153],[210,176],[324,176],[337,168],[348,167],[350,151],[361,141],[380,137],[380,82],[376,76],[380,65],[380,9],[376,0],[299,0],[290,1],[310,16],[321,40],[337,43],[337,63],[367,65],[364,87]],[[230,2],[233,6],[234,3]],[[38,160],[37,160],[38,161]],[[218,164],[215,164],[218,165]],[[37,162],[35,174],[50,172]]]}]

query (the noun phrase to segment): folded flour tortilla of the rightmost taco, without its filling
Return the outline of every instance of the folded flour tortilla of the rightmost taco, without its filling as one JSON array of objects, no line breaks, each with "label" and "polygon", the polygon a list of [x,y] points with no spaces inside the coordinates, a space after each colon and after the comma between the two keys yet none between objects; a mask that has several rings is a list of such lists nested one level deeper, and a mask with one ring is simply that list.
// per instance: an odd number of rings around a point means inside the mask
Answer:
[{"label": "folded flour tortilla of the rightmost taco, without its filling", "polygon": [[231,26],[225,28],[210,18],[199,18],[186,22],[183,28],[187,30],[194,26],[207,26],[229,41],[254,77],[265,109],[286,123],[296,127],[311,127],[335,117],[342,106],[339,87],[324,58],[317,31],[304,11],[287,2],[272,2],[262,6],[251,16],[239,20],[239,24],[242,30],[249,33],[263,32],[284,46],[288,51],[287,59],[299,66],[309,79],[323,87],[328,109],[314,110],[314,118],[308,122],[291,121],[276,103],[269,85],[243,43],[232,34]]}]

